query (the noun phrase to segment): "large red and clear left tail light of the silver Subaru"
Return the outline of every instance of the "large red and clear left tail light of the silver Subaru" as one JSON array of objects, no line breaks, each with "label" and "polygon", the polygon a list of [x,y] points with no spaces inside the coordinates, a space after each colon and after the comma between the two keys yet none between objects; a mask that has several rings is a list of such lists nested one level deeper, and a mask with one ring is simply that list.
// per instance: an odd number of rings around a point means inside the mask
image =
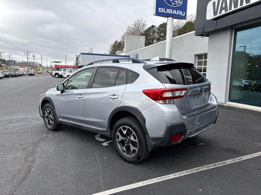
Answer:
[{"label": "large red and clear left tail light of the silver Subaru", "polygon": [[145,89],[142,92],[158,103],[173,103],[173,99],[184,97],[187,89]]}]

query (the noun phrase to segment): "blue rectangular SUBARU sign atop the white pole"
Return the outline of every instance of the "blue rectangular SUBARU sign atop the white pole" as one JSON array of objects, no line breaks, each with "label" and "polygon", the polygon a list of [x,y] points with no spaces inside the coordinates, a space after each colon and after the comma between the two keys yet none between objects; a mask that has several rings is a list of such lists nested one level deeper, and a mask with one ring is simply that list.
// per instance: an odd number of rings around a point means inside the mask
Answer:
[{"label": "blue rectangular SUBARU sign atop the white pole", "polygon": [[153,15],[187,19],[188,0],[154,0]]}]

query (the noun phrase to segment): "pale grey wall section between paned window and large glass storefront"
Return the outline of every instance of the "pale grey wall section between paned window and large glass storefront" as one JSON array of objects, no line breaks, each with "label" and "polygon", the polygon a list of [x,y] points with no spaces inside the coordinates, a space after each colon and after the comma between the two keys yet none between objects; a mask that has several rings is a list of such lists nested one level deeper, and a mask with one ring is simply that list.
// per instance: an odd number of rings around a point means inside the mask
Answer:
[{"label": "pale grey wall section between paned window and large glass storefront", "polygon": [[227,27],[209,34],[207,79],[212,82],[211,92],[221,103],[227,102],[233,47],[233,29]]}]

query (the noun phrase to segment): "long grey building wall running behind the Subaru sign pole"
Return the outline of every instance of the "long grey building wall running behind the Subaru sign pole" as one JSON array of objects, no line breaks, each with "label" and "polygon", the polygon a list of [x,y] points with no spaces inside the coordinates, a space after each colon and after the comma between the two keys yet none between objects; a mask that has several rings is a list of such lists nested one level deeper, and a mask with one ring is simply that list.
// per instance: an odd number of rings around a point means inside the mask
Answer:
[{"label": "long grey building wall running behind the Subaru sign pole", "polygon": [[[195,36],[195,31],[174,37],[172,40],[172,59],[179,62],[195,63],[195,55],[207,53],[208,37],[201,38]],[[153,57],[165,57],[166,41],[162,41],[151,46],[138,50],[126,52],[126,55],[139,54],[140,60],[151,59]]]}]

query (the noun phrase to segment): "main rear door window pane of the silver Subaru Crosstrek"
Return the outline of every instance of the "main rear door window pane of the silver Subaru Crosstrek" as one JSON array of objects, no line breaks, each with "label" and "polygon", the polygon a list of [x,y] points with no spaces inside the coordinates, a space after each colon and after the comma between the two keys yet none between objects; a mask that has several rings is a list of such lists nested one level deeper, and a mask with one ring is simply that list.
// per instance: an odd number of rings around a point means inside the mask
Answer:
[{"label": "main rear door window pane of the silver Subaru Crosstrek", "polygon": [[92,83],[92,87],[114,86],[118,68],[98,68]]}]

